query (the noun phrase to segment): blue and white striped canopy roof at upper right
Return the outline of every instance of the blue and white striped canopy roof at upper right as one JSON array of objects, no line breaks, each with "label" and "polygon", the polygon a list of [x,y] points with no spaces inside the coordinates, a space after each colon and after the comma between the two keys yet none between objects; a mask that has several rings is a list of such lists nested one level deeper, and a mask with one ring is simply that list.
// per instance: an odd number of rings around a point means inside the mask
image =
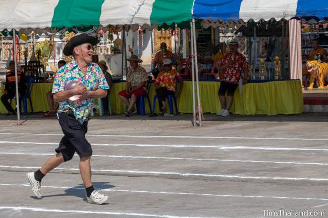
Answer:
[{"label": "blue and white striped canopy roof at upper right", "polygon": [[327,0],[195,0],[193,18],[203,20],[289,20],[328,16]]}]

